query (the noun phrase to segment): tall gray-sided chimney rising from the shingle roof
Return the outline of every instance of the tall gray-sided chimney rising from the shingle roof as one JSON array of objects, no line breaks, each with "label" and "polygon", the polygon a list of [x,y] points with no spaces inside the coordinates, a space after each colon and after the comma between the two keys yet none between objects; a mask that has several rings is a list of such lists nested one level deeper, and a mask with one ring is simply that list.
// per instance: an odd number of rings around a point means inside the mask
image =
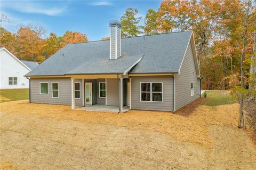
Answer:
[{"label": "tall gray-sided chimney rising from the shingle roof", "polygon": [[109,59],[117,59],[121,56],[121,22],[114,20],[110,26],[110,56]]}]

